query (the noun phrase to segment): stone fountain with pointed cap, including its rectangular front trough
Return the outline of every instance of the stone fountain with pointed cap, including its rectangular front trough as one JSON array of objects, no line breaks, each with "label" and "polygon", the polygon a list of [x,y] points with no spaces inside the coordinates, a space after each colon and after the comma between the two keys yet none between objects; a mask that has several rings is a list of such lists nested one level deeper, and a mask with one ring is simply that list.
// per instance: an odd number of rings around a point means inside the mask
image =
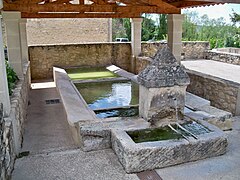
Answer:
[{"label": "stone fountain with pointed cap, including its rectangular front trough", "polygon": [[[126,172],[162,168],[226,152],[227,139],[223,131],[205,121],[189,120],[183,116],[189,77],[168,47],[157,52],[153,62],[138,75],[138,81],[140,116],[150,122],[151,127],[132,131],[111,131],[112,148]],[[200,130],[186,130],[179,125],[186,122],[190,124],[185,127],[190,125],[191,128],[197,127]],[[174,123],[175,125],[171,125]],[[181,128],[182,133],[173,126]],[[182,138],[137,142],[132,136],[137,134],[142,140],[152,131],[165,133],[171,130]],[[141,134],[144,134],[142,139]],[[161,133],[156,134],[158,135],[161,136]]]}]

